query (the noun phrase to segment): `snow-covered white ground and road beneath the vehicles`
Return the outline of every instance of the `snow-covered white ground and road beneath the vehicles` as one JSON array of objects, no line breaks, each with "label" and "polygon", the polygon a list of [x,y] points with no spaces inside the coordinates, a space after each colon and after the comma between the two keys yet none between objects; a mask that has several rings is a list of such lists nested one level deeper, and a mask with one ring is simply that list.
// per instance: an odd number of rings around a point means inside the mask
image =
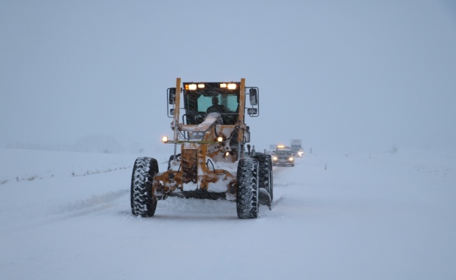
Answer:
[{"label": "snow-covered white ground and road beneath the vehicles", "polygon": [[307,154],[256,220],[131,216],[135,158],[0,149],[0,279],[456,279],[456,151]]}]

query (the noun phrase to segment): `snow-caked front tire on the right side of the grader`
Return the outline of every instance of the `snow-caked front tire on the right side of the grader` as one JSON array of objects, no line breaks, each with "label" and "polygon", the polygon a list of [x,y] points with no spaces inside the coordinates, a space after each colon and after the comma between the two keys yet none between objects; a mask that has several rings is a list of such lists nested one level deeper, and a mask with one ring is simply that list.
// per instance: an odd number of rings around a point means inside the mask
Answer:
[{"label": "snow-caked front tire on the right side of the grader", "polygon": [[258,162],[241,158],[238,163],[236,209],[238,218],[258,217]]}]

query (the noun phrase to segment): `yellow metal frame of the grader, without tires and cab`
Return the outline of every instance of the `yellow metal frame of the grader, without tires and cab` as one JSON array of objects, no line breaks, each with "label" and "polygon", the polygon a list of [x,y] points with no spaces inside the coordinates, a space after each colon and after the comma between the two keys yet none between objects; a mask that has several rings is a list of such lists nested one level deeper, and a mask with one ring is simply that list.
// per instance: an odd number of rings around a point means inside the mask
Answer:
[{"label": "yellow metal frame of the grader, without tires and cab", "polygon": [[[174,135],[173,140],[166,142],[175,144],[175,147],[180,145],[180,158],[176,158],[175,148],[171,168],[154,177],[152,195],[160,200],[176,193],[180,193],[176,196],[198,197],[201,193],[213,192],[225,193],[225,198],[229,199],[230,195],[236,194],[237,161],[243,157],[244,135],[248,130],[244,123],[245,79],[241,79],[239,86],[236,121],[229,125],[212,119],[199,124],[180,123],[180,95],[185,94],[180,84],[180,78],[177,78],[176,105],[171,123]],[[192,139],[193,135],[198,138]],[[218,137],[225,141],[219,142]],[[218,198],[223,197],[220,195]]]}]

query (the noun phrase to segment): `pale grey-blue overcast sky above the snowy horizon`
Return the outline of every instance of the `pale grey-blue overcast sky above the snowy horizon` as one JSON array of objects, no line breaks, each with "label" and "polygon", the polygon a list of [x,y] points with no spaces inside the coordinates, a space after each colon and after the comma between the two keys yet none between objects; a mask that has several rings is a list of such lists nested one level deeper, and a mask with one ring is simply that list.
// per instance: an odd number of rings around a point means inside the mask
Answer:
[{"label": "pale grey-blue overcast sky above the snowy horizon", "polygon": [[259,87],[258,149],[456,148],[452,1],[0,1],[0,147],[163,148],[177,77]]}]

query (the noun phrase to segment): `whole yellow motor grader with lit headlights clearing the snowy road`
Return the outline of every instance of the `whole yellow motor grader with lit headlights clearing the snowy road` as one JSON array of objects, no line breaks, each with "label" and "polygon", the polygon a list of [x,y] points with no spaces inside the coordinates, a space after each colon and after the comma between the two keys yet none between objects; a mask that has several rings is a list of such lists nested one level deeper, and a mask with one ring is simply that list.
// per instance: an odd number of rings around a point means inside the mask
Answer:
[{"label": "whole yellow motor grader with lit headlights clearing the snowy road", "polygon": [[[183,87],[182,87],[183,85]],[[259,89],[240,82],[180,83],[167,90],[174,144],[168,169],[155,158],[138,158],[131,176],[131,212],[154,216],[167,197],[236,201],[238,218],[257,218],[271,209],[271,155],[250,150],[245,116],[259,116]],[[248,97],[248,98],[247,98]],[[249,104],[246,104],[248,99]],[[247,151],[245,151],[247,148]]]}]

